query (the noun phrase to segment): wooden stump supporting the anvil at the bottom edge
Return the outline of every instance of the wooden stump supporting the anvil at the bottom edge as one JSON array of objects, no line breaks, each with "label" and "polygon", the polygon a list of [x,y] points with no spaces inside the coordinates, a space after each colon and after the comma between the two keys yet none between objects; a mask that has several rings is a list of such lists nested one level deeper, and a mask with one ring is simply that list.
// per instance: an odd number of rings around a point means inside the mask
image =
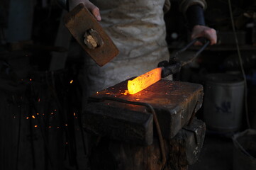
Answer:
[{"label": "wooden stump supporting the anvil at the bottom edge", "polygon": [[[172,139],[165,140],[165,170],[187,170],[196,162],[204,142],[206,125],[194,120]],[[91,154],[92,170],[161,170],[162,157],[157,138],[150,146],[131,145],[103,138]]]}]

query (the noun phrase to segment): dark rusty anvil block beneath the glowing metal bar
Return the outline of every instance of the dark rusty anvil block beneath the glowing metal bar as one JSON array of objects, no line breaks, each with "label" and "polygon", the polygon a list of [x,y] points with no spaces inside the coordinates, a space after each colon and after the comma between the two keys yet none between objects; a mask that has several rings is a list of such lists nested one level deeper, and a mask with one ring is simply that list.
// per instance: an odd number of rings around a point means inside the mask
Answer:
[{"label": "dark rusty anvil block beneath the glowing metal bar", "polygon": [[[99,91],[92,97],[149,103],[157,114],[162,135],[167,139],[187,125],[192,113],[199,110],[203,101],[203,87],[199,84],[160,80],[137,94],[128,94],[127,82]],[[152,143],[152,115],[144,106],[92,101],[87,104],[84,113],[84,128],[98,135],[110,135],[116,140],[146,145]]]}]

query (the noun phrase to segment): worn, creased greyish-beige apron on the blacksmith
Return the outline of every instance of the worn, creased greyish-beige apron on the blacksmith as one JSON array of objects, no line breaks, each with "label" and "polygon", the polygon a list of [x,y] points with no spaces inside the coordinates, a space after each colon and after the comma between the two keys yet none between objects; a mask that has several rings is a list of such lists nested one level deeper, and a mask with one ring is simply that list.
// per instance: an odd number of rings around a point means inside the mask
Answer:
[{"label": "worn, creased greyish-beige apron on the blacksmith", "polygon": [[138,77],[169,59],[163,6],[165,0],[91,0],[100,24],[120,51],[104,67],[85,57],[87,91],[91,95],[130,77]]}]

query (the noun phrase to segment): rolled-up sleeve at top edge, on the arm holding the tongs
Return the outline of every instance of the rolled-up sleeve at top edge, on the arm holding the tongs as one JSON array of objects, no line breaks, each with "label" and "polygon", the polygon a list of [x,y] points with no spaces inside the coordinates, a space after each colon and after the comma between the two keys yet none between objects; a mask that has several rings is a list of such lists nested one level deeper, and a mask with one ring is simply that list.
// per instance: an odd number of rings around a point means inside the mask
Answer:
[{"label": "rolled-up sleeve at top edge, on the arm holding the tongs", "polygon": [[179,0],[179,11],[185,15],[191,5],[200,5],[204,9],[207,7],[205,0]]}]

